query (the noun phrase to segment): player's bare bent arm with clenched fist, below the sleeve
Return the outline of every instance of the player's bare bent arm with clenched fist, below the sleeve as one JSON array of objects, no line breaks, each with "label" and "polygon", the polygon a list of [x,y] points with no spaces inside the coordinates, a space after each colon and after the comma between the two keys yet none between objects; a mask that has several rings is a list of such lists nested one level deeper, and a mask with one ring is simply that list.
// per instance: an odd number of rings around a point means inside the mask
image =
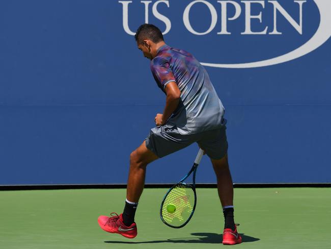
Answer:
[{"label": "player's bare bent arm with clenched fist, below the sleeve", "polygon": [[155,123],[157,126],[162,126],[167,122],[168,118],[176,110],[180,101],[180,90],[176,82],[172,81],[166,85],[164,89],[167,94],[166,106],[164,107],[163,114],[157,114],[155,117]]}]

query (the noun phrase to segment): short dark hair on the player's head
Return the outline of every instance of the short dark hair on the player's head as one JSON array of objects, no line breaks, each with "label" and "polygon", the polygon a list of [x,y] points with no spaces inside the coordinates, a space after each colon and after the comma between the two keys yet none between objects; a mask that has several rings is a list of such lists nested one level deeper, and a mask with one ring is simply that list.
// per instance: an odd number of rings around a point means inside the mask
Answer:
[{"label": "short dark hair on the player's head", "polygon": [[145,39],[149,39],[154,43],[157,43],[163,41],[163,35],[159,28],[153,24],[145,23],[137,29],[137,32],[134,35],[134,39],[139,44],[142,43]]}]

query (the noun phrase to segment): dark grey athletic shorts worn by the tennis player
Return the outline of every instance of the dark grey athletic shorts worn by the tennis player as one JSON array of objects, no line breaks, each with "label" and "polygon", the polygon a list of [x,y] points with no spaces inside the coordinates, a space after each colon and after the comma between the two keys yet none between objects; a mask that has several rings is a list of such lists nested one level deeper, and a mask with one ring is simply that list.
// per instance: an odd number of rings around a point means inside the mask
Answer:
[{"label": "dark grey athletic shorts worn by the tennis player", "polygon": [[197,142],[211,159],[221,159],[228,152],[226,126],[196,134],[182,135],[176,127],[158,126],[145,139],[147,148],[159,158]]}]

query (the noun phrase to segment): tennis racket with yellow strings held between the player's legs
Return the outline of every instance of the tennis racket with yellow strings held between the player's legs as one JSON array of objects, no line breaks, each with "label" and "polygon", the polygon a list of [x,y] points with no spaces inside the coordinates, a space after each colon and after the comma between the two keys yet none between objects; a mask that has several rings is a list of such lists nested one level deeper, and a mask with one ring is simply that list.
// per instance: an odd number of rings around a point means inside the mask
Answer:
[{"label": "tennis racket with yellow strings held between the player's legs", "polygon": [[[187,175],[172,186],[160,207],[160,218],[169,227],[182,228],[191,219],[197,205],[196,172],[204,151],[199,150],[196,160]],[[184,181],[193,173],[192,184]]]}]

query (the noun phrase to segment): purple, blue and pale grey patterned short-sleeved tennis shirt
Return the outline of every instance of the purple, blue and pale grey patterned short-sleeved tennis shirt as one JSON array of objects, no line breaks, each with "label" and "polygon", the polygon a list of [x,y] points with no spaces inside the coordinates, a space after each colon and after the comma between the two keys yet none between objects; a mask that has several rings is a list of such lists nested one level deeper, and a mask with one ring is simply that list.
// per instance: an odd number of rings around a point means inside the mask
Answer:
[{"label": "purple, blue and pale grey patterned short-sleeved tennis shirt", "polygon": [[210,82],[205,68],[188,52],[161,46],[151,60],[151,71],[165,93],[170,82],[181,91],[180,102],[168,119],[167,127],[177,127],[180,134],[194,134],[224,125],[225,109]]}]

